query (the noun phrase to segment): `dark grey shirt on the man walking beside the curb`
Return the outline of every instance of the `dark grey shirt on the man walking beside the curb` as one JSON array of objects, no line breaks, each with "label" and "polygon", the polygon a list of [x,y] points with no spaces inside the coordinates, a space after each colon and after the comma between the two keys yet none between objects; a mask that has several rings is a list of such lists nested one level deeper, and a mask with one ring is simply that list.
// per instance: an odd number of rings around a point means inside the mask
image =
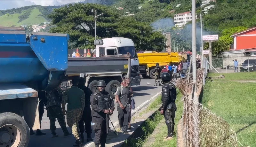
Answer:
[{"label": "dark grey shirt on the man walking beside the curb", "polygon": [[[131,92],[130,92],[129,87],[124,87],[123,88],[122,95],[121,95],[121,87],[119,87],[118,90],[117,90],[116,95],[118,95],[119,100],[120,100],[121,104],[124,107],[128,107],[130,105]],[[117,103],[117,106],[120,107],[119,103]]]}]

